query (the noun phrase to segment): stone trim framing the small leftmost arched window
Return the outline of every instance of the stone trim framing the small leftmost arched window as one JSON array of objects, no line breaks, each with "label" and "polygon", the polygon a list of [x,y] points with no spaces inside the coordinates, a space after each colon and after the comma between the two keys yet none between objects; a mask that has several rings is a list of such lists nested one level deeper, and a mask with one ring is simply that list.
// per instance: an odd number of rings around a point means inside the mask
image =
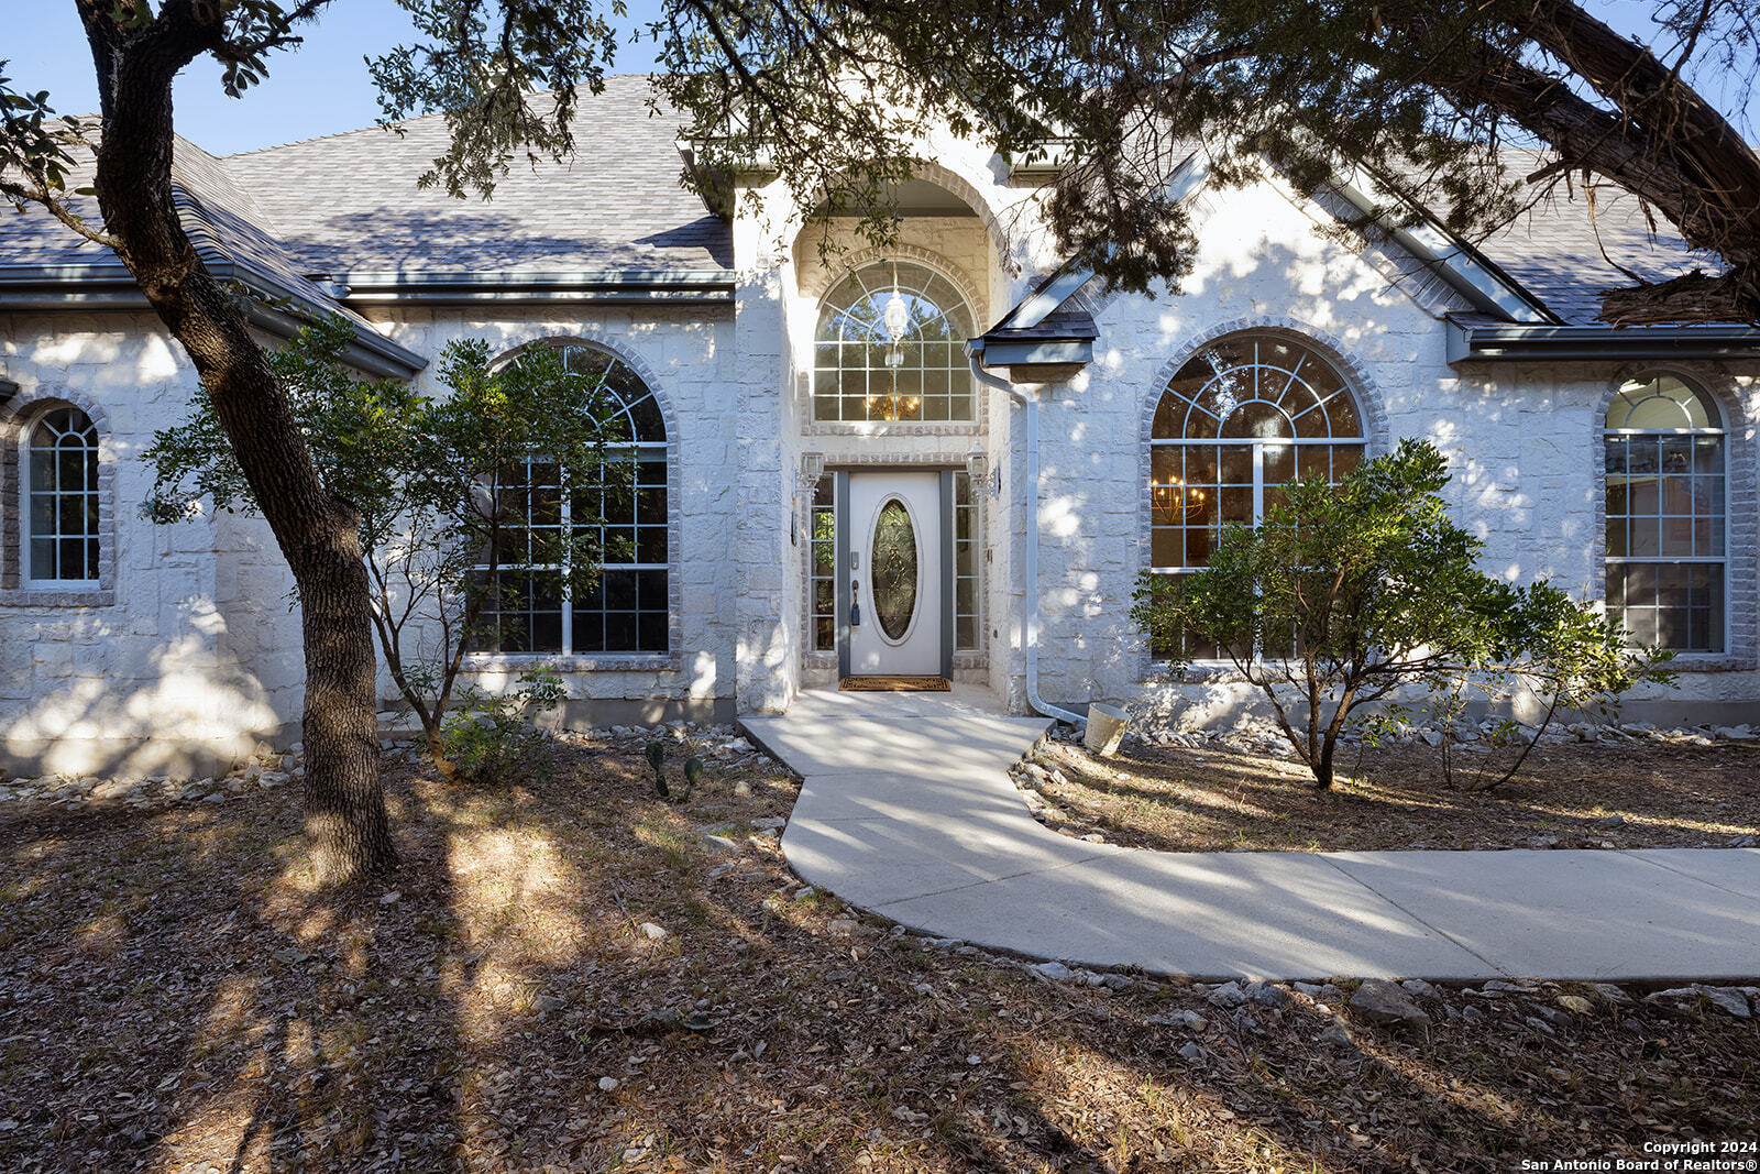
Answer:
[{"label": "stone trim framing the small leftmost arched window", "polygon": [[[77,408],[99,433],[97,586],[30,586],[25,556],[25,470],[32,426],[56,408]],[[67,387],[26,387],[0,407],[0,607],[113,607],[116,604],[116,444],[109,414]]]}]

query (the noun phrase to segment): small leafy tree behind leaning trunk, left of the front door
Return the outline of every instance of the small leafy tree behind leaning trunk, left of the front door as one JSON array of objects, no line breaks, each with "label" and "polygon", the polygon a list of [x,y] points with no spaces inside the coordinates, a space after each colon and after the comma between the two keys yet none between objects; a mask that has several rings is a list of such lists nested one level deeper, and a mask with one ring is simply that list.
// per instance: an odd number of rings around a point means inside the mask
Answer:
[{"label": "small leafy tree behind leaning trunk, left of the front door", "polygon": [[[326,489],[361,514],[385,667],[435,766],[458,778],[447,713],[465,657],[495,637],[502,593],[524,591],[540,576],[579,588],[598,574],[602,495],[628,481],[605,445],[627,437],[602,403],[602,382],[568,370],[551,347],[491,368],[488,343],[456,341],[440,361],[451,394],[428,400],[408,384],[350,375],[341,363],[350,338],[340,320],[313,326],[269,361]],[[146,451],[157,481],[144,512],[180,521],[199,516],[202,498],[257,512],[206,396],[192,408]],[[519,697],[554,706],[560,690],[553,678],[528,676]],[[507,716],[477,690],[465,690],[465,701],[472,718]],[[480,757],[479,748],[472,762]]]}]

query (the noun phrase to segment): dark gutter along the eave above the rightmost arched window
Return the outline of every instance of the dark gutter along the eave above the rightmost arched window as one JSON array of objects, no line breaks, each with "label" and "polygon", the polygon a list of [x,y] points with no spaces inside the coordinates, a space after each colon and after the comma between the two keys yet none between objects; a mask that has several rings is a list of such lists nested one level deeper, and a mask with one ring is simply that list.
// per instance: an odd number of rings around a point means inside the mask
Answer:
[{"label": "dark gutter along the eave above the rightmost arched window", "polygon": [[1471,326],[1447,319],[1448,366],[1623,359],[1760,359],[1751,326]]}]

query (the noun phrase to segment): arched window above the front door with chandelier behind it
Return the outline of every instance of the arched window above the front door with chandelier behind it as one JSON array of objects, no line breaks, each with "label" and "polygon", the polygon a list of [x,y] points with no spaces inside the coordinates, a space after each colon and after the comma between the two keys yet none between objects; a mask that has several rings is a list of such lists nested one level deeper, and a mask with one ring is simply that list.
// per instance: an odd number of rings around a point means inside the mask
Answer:
[{"label": "arched window above the front door with chandelier behind it", "polygon": [[820,303],[815,421],[972,421],[972,310],[910,260],[864,266]]}]

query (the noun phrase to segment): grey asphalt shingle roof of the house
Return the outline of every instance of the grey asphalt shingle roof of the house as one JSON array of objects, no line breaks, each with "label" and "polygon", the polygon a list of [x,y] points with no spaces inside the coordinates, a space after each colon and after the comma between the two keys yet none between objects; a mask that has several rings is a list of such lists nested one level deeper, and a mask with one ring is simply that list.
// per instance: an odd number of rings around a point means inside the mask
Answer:
[{"label": "grey asphalt shingle roof of the house", "polygon": [[[401,136],[373,127],[224,158],[180,139],[174,178],[199,248],[320,305],[327,292],[308,278],[348,271],[730,269],[730,227],[679,185],[678,120],[655,114],[649,93],[644,76],[607,77],[581,99],[574,158],[516,162],[488,202],[417,187],[447,144],[438,114],[401,123]],[[1535,157],[1512,151],[1510,164],[1531,171]],[[1621,266],[1649,280],[1716,269],[1661,227],[1651,234],[1632,195],[1603,190],[1591,216],[1580,192],[1559,188],[1478,248],[1565,322],[1588,326],[1603,290],[1630,285]],[[102,260],[106,250],[46,213],[0,209],[0,266]]]}]

